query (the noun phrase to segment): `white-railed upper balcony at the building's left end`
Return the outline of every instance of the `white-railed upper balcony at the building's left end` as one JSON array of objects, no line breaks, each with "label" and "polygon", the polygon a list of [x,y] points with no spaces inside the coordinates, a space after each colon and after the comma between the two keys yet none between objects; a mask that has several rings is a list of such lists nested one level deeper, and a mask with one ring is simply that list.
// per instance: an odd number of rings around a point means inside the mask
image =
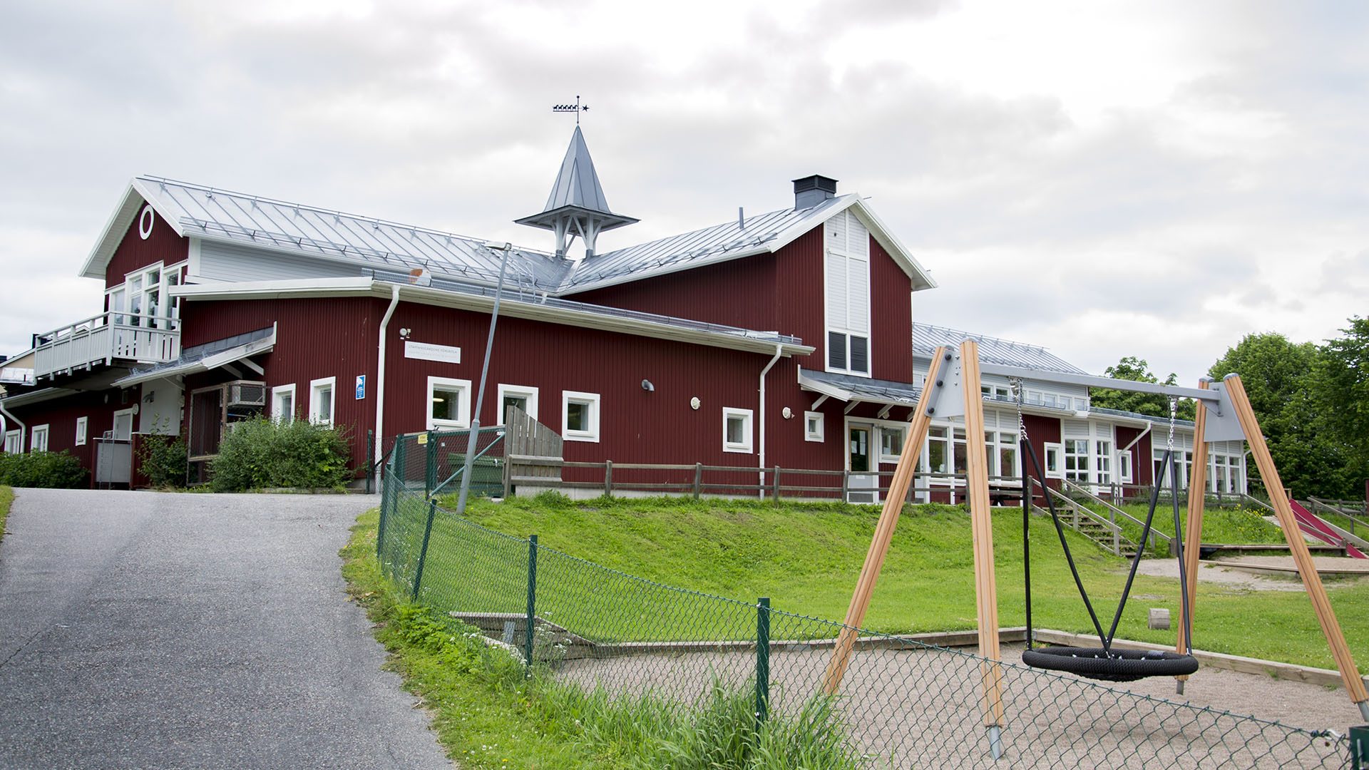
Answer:
[{"label": "white-railed upper balcony at the building's left end", "polygon": [[181,355],[181,321],[103,312],[34,337],[34,380],[96,364],[164,363]]}]

